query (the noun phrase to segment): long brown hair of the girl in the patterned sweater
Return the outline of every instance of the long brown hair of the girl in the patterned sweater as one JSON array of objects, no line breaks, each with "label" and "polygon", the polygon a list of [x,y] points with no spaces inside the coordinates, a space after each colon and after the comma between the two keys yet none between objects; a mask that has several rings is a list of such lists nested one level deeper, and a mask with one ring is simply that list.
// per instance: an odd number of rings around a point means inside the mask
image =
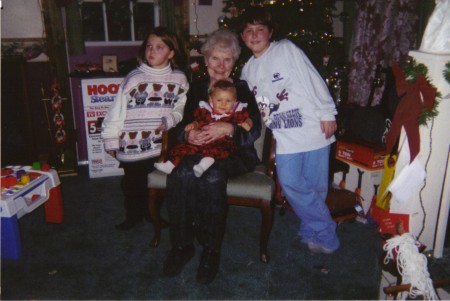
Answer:
[{"label": "long brown hair of the girl in the patterned sweater", "polygon": [[138,52],[138,60],[140,63],[147,64],[147,60],[145,58],[145,49],[147,48],[148,38],[151,35],[155,35],[166,44],[170,50],[174,51],[174,56],[170,60],[170,65],[172,69],[180,69],[185,71],[187,69],[188,62],[188,53],[187,49],[184,47],[181,39],[172,31],[167,29],[166,27],[155,27],[153,28],[142,41],[141,47]]}]

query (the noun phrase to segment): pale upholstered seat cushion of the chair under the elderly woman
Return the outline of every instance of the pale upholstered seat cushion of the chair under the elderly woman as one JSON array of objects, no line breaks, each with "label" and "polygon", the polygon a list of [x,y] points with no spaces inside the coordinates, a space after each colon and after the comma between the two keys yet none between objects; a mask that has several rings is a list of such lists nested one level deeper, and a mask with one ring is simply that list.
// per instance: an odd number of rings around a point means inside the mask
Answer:
[{"label": "pale upholstered seat cushion of the chair under the elderly woman", "polygon": [[[167,175],[159,170],[147,177],[148,188],[165,189]],[[257,166],[254,172],[228,179],[227,195],[270,201],[275,193],[274,181],[264,173],[264,166]]]}]

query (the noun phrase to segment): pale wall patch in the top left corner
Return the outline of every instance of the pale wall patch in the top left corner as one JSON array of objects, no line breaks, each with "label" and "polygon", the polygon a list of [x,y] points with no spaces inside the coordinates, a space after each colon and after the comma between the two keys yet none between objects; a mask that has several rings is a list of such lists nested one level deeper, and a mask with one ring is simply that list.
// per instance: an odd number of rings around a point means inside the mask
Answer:
[{"label": "pale wall patch in the top left corner", "polygon": [[2,4],[2,39],[44,36],[39,0],[2,0]]}]

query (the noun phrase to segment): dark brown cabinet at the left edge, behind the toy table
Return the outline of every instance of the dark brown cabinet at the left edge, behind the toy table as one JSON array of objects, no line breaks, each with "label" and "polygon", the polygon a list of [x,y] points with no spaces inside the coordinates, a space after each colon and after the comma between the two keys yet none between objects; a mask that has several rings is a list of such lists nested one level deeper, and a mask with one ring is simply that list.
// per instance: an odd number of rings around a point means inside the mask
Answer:
[{"label": "dark brown cabinet at the left edge, behind the toy table", "polygon": [[22,57],[2,58],[1,64],[1,164],[48,162],[53,144],[41,91],[50,87],[49,64]]}]

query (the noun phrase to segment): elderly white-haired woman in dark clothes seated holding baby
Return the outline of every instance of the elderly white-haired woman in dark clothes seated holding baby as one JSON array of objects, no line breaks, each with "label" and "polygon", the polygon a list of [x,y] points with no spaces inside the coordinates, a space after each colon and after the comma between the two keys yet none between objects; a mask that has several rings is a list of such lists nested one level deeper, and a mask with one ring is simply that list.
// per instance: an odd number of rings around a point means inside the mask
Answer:
[{"label": "elderly white-haired woman in dark clothes seated holding baby", "polygon": [[195,255],[194,238],[203,247],[197,281],[208,284],[217,274],[220,249],[226,226],[227,179],[254,170],[259,159],[253,143],[261,134],[261,117],[255,97],[245,81],[234,80],[237,98],[247,103],[253,127],[245,131],[239,126],[216,122],[200,130],[184,131],[194,121],[194,110],[201,100],[208,101],[208,89],[215,81],[229,78],[240,54],[235,33],[219,29],[207,37],[202,54],[209,79],[194,82],[188,92],[184,117],[177,126],[179,141],[195,145],[209,143],[224,136],[233,137],[238,151],[226,159],[217,160],[201,177],[196,177],[193,166],[201,157],[185,157],[167,178],[166,206],[170,222],[172,249],[164,261],[163,273],[178,275]]}]

